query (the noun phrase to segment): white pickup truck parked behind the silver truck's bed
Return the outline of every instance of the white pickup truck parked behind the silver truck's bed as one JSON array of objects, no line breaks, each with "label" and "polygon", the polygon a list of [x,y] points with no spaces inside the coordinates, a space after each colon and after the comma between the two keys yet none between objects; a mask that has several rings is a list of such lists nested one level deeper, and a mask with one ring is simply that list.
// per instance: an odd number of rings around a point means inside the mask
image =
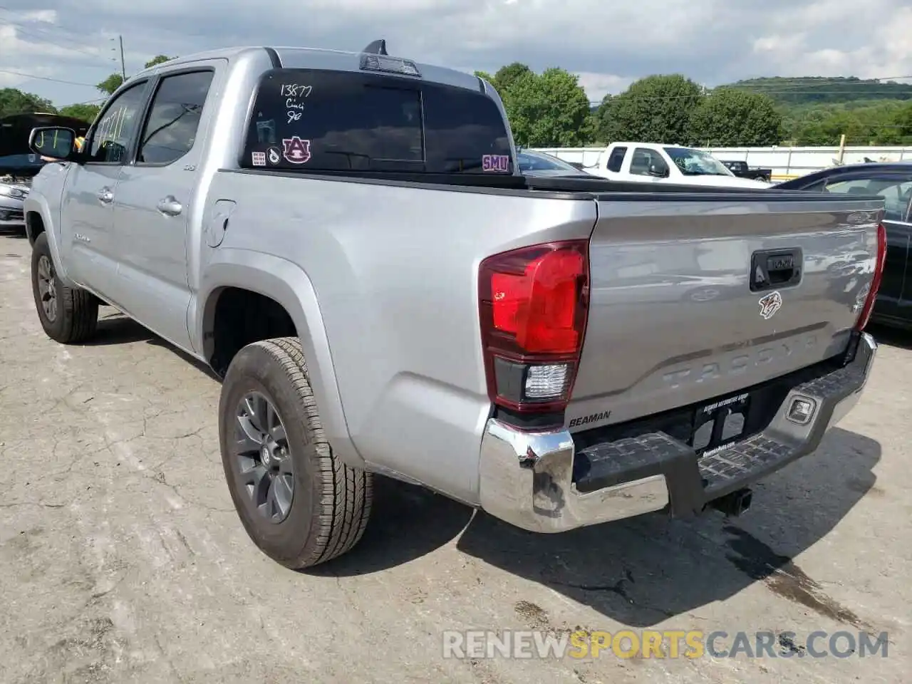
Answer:
[{"label": "white pickup truck parked behind the silver truck's bed", "polygon": [[612,181],[647,181],[724,188],[767,188],[770,183],[739,178],[708,152],[654,142],[613,142],[595,166],[583,170]]}]

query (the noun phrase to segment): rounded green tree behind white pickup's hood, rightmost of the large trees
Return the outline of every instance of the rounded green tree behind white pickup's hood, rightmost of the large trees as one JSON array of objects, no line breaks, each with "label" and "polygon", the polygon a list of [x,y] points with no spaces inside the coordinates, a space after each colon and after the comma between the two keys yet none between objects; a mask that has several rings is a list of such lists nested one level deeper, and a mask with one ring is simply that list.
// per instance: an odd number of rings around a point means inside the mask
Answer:
[{"label": "rounded green tree behind white pickup's hood, rightmost of the large trees", "polygon": [[716,88],[690,115],[691,144],[762,147],[782,140],[782,114],[766,95]]}]

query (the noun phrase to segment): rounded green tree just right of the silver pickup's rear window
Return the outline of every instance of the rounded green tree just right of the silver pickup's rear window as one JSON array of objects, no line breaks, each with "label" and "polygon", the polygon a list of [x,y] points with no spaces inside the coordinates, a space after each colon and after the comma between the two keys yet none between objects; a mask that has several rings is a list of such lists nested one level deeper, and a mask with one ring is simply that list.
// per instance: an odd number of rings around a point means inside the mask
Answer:
[{"label": "rounded green tree just right of the silver pickup's rear window", "polygon": [[501,97],[518,145],[575,147],[592,140],[589,98],[578,77],[562,68],[520,74]]}]

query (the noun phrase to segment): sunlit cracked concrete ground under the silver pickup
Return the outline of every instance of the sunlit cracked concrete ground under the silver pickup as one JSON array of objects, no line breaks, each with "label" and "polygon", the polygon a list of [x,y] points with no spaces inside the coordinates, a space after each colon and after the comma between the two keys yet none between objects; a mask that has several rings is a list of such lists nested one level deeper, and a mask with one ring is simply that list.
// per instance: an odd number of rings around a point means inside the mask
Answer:
[{"label": "sunlit cracked concrete ground under the silver pickup", "polygon": [[[0,234],[0,681],[909,681],[909,337],[741,519],[535,536],[384,481],[358,548],[294,573],[233,511],[218,383],[108,309],[90,345],[47,339],[28,256]],[[448,629],[625,626],[796,636],[792,658],[442,656]],[[887,657],[811,658],[815,630],[886,631]]]}]

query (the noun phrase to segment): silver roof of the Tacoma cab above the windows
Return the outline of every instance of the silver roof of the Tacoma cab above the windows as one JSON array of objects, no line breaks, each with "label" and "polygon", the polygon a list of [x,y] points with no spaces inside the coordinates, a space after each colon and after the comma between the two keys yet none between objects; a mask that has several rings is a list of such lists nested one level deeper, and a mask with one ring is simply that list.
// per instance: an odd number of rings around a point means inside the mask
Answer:
[{"label": "silver roof of the Tacoma cab above the windows", "polygon": [[[222,47],[215,50],[206,50],[196,52],[191,55],[175,57],[167,62],[162,62],[154,67],[143,69],[131,78],[155,73],[163,67],[174,67],[181,64],[189,64],[203,59],[227,59],[229,62],[251,57],[254,53],[263,52],[264,50],[274,50],[279,57],[283,68],[317,68],[337,71],[358,71],[360,68],[360,59],[365,52],[351,52],[347,50],[333,50],[326,47],[272,47],[272,46],[237,46]],[[481,80],[473,74],[464,71],[446,67],[435,67],[430,64],[417,62],[409,57],[401,55],[389,55],[389,57],[409,59],[415,64],[420,71],[421,78],[425,80],[444,83],[460,88],[472,88],[479,90]]]}]

